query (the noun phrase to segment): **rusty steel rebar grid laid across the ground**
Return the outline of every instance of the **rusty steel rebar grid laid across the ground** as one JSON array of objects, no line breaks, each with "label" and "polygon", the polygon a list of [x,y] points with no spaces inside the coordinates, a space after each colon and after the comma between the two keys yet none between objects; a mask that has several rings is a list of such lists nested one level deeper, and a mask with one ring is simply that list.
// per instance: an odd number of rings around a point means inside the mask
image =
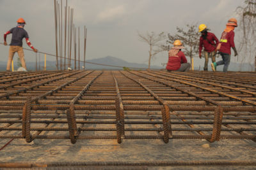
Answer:
[{"label": "rusty steel rebar grid laid across the ground", "polygon": [[0,138],[256,141],[255,73],[88,70],[0,78]]}]

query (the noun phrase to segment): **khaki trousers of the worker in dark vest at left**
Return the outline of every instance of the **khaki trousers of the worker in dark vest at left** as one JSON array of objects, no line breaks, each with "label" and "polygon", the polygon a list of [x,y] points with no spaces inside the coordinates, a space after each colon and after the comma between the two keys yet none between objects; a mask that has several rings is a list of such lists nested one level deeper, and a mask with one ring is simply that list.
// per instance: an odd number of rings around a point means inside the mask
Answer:
[{"label": "khaki trousers of the worker in dark vest at left", "polygon": [[24,69],[27,69],[22,46],[12,45],[10,46],[10,50],[9,50],[9,57],[8,57],[8,62],[6,66],[6,71],[10,71],[13,55],[15,54],[15,52],[17,52],[20,57],[21,66],[24,67]]}]

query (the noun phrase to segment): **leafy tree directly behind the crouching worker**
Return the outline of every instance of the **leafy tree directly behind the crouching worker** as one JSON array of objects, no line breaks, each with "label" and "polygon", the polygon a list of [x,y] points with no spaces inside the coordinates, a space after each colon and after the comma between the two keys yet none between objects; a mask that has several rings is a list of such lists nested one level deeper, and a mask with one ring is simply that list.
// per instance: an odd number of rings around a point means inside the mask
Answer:
[{"label": "leafy tree directly behind the crouching worker", "polygon": [[172,44],[175,39],[179,39],[182,41],[182,45],[184,48],[184,54],[190,57],[190,62],[192,62],[192,58],[195,55],[198,55],[199,52],[199,37],[200,32],[196,31],[196,24],[187,24],[186,30],[180,27],[176,27],[177,33],[174,35],[168,34],[168,40],[166,41],[167,45],[164,45],[163,48],[165,50],[170,49],[170,44]]}]

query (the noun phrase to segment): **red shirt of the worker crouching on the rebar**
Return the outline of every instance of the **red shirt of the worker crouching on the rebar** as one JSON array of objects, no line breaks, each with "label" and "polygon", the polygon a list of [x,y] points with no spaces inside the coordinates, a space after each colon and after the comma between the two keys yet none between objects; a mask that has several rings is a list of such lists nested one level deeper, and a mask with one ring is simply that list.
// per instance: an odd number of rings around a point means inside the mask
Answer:
[{"label": "red shirt of the worker crouching on the rebar", "polygon": [[166,69],[177,70],[180,68],[181,63],[186,63],[186,62],[188,62],[188,61],[187,61],[184,53],[182,51],[179,51],[176,55],[169,55]]}]

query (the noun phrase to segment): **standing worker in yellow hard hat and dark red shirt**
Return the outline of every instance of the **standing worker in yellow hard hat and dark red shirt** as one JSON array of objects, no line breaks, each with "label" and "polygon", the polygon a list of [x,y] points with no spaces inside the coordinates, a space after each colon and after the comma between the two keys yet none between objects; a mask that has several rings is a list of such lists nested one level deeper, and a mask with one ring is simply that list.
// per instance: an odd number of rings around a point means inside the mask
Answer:
[{"label": "standing worker in yellow hard hat and dark red shirt", "polygon": [[199,25],[198,32],[201,32],[199,39],[199,58],[202,58],[202,49],[204,47],[204,71],[208,71],[209,57],[212,59],[212,62],[215,62],[216,46],[218,45],[219,40],[212,32],[208,32],[205,24]]}]

